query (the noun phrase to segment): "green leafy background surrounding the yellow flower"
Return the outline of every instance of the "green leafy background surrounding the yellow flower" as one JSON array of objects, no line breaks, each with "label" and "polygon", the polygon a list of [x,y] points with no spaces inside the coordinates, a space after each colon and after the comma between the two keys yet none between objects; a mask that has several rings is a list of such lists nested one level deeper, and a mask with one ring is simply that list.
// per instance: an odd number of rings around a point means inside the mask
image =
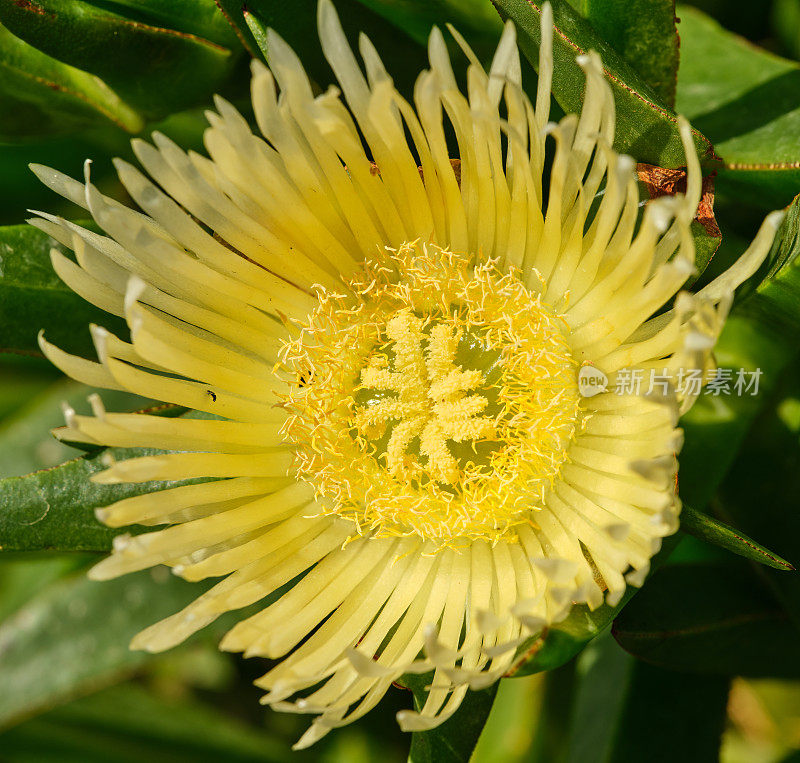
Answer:
[{"label": "green leafy background surrounding the yellow flower", "polygon": [[[251,681],[265,665],[216,650],[225,622],[166,655],[128,651],[198,586],[163,570],[85,579],[113,535],[93,509],[148,486],[89,483],[103,454],[49,437],[61,402],[88,409],[93,390],[39,357],[39,329],[89,354],[88,324],[109,319],[59,281],[54,242],[24,221],[28,208],[82,216],[30,162],[79,176],[91,158],[95,182],[124,199],[111,158],[132,158],[132,136],[158,129],[201,150],[214,93],[247,115],[249,59],[263,56],[267,27],[327,85],[316,2],[0,0],[0,760],[800,760],[800,0],[552,4],[556,109],[580,108],[574,58],[594,48],[616,98],[618,150],[679,168],[675,113],[692,121],[722,232],[697,226],[703,279],[741,254],[768,211],[788,207],[717,350],[720,366],[762,370],[760,394],[703,397],[684,418],[688,509],[641,591],[618,607],[576,608],[525,645],[515,677],[469,695],[439,730],[413,740],[397,730],[394,713],[425,684],[409,677],[367,718],[291,753],[307,720],[261,708]],[[537,61],[538,2],[337,8],[407,94],[433,24],[453,23],[488,61],[511,18],[525,58]],[[116,410],[147,404],[104,399]]]}]

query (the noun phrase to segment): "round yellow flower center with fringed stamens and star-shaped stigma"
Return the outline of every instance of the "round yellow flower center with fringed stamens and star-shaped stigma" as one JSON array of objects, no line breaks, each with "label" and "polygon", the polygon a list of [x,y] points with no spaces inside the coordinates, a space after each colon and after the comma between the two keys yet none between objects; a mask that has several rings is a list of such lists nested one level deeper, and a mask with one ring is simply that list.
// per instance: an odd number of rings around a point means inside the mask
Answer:
[{"label": "round yellow flower center with fringed stamens and star-shaped stigma", "polygon": [[387,251],[283,348],[299,477],[364,533],[458,545],[534,523],[583,420],[567,330],[496,263]]}]

